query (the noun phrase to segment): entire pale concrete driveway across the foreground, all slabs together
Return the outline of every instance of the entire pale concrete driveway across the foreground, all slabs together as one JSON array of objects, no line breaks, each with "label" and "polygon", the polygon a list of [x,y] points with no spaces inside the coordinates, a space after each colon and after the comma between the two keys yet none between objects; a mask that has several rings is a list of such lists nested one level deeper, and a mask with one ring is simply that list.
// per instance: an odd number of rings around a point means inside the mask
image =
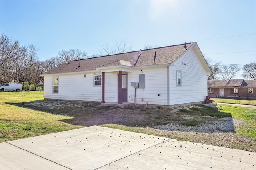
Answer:
[{"label": "entire pale concrete driveway across the foreground, all slabs together", "polygon": [[256,169],[256,153],[100,126],[0,143],[0,169]]}]

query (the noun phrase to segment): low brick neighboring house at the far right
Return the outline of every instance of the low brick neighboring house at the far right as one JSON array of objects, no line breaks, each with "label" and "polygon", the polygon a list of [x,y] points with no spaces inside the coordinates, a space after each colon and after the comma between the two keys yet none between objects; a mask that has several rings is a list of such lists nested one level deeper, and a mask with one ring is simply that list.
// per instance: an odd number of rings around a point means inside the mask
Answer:
[{"label": "low brick neighboring house at the far right", "polygon": [[208,80],[209,97],[256,98],[256,80]]}]

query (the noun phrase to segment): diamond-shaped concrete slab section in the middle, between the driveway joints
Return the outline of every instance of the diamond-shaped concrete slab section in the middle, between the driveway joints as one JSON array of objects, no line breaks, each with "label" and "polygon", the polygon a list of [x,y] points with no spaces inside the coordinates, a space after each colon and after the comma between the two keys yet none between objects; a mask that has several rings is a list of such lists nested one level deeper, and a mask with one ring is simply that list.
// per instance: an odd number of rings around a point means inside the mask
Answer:
[{"label": "diamond-shaped concrete slab section in the middle, between the driveway joints", "polygon": [[96,169],[168,138],[99,126],[8,143],[70,169]]}]

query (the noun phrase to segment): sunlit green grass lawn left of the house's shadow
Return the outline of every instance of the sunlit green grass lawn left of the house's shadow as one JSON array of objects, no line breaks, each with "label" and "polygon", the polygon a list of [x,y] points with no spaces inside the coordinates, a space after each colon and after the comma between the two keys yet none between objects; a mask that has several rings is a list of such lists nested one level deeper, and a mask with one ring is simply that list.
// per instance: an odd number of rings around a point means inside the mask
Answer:
[{"label": "sunlit green grass lawn left of the house's shadow", "polygon": [[43,100],[43,93],[0,92],[0,142],[81,127],[62,121],[72,117],[6,104],[32,100]]}]

